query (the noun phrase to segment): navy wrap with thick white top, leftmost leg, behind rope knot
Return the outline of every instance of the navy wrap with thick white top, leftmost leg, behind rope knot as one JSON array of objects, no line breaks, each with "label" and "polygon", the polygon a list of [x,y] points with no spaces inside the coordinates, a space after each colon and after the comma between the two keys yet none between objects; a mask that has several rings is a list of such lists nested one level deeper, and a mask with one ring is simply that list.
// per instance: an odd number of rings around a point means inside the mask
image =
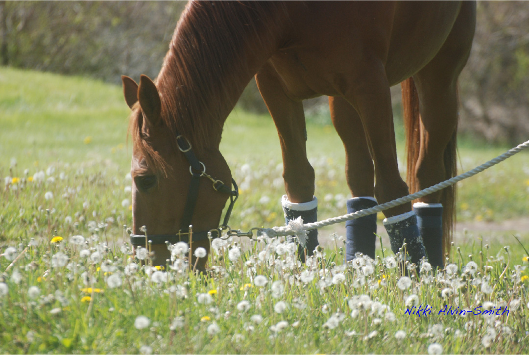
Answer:
[{"label": "navy wrap with thick white top, leftmost leg, behind rope knot", "polygon": [[[303,223],[313,223],[318,220],[318,200],[314,197],[312,201],[305,203],[292,203],[288,201],[287,196],[284,195],[281,199],[281,205],[283,212],[285,213],[285,224],[288,224],[290,220],[296,219],[301,216]],[[293,241],[293,236],[288,236],[287,241]],[[311,229],[307,232],[307,255],[313,255],[314,249],[318,246],[318,230]],[[298,247],[298,255],[300,259],[305,262],[305,252],[301,245]]]}]

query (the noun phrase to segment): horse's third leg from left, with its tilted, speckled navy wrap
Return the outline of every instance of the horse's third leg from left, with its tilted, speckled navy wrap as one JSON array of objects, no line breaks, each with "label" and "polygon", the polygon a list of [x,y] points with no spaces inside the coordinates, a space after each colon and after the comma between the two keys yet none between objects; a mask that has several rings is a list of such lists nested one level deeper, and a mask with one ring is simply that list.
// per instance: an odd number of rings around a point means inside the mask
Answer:
[{"label": "horse's third leg from left, with its tilted, speckled navy wrap", "polygon": [[[361,73],[369,75],[355,78],[345,99],[354,106],[362,120],[375,165],[375,196],[384,203],[405,196],[408,187],[398,171],[393,111],[384,66],[370,63]],[[412,262],[418,263],[426,254],[411,203],[386,210],[384,214],[391,250],[397,253],[406,241]]]}]

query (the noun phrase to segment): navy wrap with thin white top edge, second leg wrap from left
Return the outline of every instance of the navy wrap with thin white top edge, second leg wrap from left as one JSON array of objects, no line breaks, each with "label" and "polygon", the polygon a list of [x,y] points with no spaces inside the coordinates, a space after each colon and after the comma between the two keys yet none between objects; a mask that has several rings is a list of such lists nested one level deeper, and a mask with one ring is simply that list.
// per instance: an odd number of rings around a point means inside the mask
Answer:
[{"label": "navy wrap with thin white top edge, second leg wrap from left", "polygon": [[[377,201],[362,197],[352,198],[347,201],[347,213],[377,206]],[[375,259],[375,241],[377,233],[377,215],[369,215],[345,222],[345,244],[346,260],[355,258],[356,253],[369,255]]]}]

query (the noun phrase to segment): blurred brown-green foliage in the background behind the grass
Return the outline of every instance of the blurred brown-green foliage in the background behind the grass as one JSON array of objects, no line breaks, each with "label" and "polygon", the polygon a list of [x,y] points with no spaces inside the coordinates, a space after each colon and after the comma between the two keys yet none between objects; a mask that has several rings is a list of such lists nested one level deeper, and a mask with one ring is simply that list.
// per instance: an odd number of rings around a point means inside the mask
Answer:
[{"label": "blurred brown-green foliage in the background behind the grass", "polygon": [[[156,77],[185,4],[0,1],[0,63],[114,84],[121,74]],[[477,23],[460,77],[460,132],[520,143],[529,136],[529,3],[478,2]],[[393,100],[398,108],[398,86]],[[254,81],[239,105],[266,112]],[[330,123],[326,97],[307,100],[305,108],[307,118]]]}]

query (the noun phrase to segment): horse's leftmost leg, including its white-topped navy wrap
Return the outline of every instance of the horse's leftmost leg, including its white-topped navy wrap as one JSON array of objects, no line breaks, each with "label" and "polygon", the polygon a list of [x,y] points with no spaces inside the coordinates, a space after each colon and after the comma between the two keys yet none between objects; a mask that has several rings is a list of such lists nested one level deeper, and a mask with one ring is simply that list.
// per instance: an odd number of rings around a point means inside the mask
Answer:
[{"label": "horse's leftmost leg, including its white-topped navy wrap", "polygon": [[[283,158],[283,179],[286,196],[282,198],[285,221],[302,217],[304,223],[317,220],[317,199],[314,197],[314,169],[306,154],[306,128],[303,103],[285,94],[275,70],[269,65],[256,75],[259,92],[276,125]],[[317,229],[308,232],[307,254],[318,246]],[[299,256],[304,260],[304,251]]]}]

